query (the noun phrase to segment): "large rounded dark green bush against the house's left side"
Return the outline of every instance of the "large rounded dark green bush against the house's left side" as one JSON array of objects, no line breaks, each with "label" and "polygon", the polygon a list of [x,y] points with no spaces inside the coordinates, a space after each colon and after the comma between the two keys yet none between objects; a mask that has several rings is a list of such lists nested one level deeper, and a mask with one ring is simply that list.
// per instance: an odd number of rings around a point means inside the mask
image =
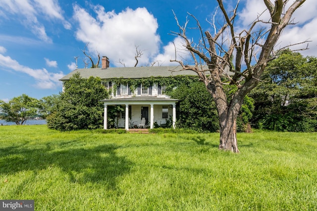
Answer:
[{"label": "large rounded dark green bush against the house's left side", "polygon": [[64,83],[64,92],[47,117],[48,127],[61,131],[101,128],[104,106],[99,100],[107,96],[101,79],[83,79],[79,73],[74,74]]}]

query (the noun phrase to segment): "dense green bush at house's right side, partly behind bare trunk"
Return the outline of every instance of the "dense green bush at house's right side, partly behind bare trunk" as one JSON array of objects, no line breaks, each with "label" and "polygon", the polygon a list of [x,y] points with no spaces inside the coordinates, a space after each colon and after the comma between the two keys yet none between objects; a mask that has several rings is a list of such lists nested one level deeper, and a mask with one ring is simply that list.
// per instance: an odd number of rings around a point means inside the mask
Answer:
[{"label": "dense green bush at house's right side, partly behind bare trunk", "polygon": [[[230,85],[225,88],[228,96],[230,96],[229,92],[232,92],[232,90],[233,88]],[[167,94],[180,100],[177,104],[178,127],[210,132],[219,130],[215,103],[203,83],[182,84]],[[237,131],[248,130],[253,108],[253,100],[246,96],[237,118]]]}]

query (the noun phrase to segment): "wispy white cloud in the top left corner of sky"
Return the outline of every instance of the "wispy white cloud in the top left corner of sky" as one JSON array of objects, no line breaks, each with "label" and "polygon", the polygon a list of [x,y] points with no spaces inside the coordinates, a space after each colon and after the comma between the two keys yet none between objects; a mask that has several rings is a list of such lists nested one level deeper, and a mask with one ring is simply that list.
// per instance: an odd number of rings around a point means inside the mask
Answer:
[{"label": "wispy white cloud in the top left corner of sky", "polygon": [[30,29],[33,34],[45,42],[52,42],[47,35],[46,29],[39,17],[60,20],[65,29],[70,29],[71,25],[62,16],[62,10],[57,0],[2,0],[0,4],[0,15],[6,19],[19,19],[26,29]]}]

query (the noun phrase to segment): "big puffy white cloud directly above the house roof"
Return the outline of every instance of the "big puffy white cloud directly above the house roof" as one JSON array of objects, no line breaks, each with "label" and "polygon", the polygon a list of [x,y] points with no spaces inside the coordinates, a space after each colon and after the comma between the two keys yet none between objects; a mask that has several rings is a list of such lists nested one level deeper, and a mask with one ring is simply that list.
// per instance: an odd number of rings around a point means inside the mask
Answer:
[{"label": "big puffy white cloud directly above the house roof", "polygon": [[74,5],[74,18],[78,21],[76,38],[88,43],[93,55],[97,51],[110,59],[110,65],[120,66],[117,61],[124,61],[126,66],[135,64],[136,46],[142,50],[139,64],[148,65],[159,53],[160,38],[157,34],[157,19],[146,8],[126,10],[120,13],[105,12],[104,7],[95,6],[94,18],[84,8]]}]

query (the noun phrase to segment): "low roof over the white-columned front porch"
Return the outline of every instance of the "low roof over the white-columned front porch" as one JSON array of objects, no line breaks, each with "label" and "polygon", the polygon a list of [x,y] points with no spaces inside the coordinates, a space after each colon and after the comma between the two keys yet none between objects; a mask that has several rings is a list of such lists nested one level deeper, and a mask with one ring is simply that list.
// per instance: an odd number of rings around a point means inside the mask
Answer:
[{"label": "low roof over the white-columned front porch", "polygon": [[100,100],[107,105],[117,105],[117,104],[163,104],[169,105],[172,103],[176,103],[178,99],[171,99],[165,97],[153,97],[153,96],[137,96],[137,97],[125,97],[125,98],[111,98],[111,99],[103,99]]}]

